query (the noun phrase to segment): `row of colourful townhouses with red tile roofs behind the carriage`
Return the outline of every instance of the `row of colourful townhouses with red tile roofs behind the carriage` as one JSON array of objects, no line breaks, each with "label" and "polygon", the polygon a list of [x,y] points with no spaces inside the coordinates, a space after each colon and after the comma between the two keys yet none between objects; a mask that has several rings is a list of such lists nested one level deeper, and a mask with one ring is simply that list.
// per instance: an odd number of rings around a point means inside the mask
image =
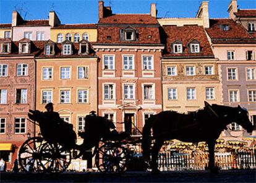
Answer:
[{"label": "row of colourful townhouses with red tile roofs behind the carriage", "polygon": [[[54,103],[64,121],[83,130],[92,110],[123,131],[140,135],[145,120],[163,110],[189,113],[203,101],[241,106],[256,125],[256,10],[228,6],[229,18],[210,19],[203,1],[195,18],[113,14],[98,2],[98,23],[48,20],[0,24],[0,151],[7,166],[38,129],[28,109]],[[255,135],[255,132],[254,134]],[[237,124],[221,138],[249,134]],[[82,140],[79,138],[79,142]]]}]

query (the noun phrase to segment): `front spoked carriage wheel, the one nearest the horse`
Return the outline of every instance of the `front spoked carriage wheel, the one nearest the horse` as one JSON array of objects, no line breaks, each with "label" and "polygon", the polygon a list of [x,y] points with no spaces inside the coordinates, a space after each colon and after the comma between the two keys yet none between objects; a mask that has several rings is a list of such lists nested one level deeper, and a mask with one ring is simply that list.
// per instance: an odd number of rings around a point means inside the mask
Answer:
[{"label": "front spoked carriage wheel, the one nearest the horse", "polygon": [[97,168],[107,174],[121,174],[127,170],[129,156],[121,145],[106,143],[96,153]]}]

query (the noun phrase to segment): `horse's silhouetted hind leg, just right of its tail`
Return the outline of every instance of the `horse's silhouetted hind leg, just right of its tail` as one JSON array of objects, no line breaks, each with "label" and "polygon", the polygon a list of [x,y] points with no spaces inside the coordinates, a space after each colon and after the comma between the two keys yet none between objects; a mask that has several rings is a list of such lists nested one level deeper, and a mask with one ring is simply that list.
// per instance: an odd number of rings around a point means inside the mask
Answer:
[{"label": "horse's silhouetted hind leg, just right of its tail", "polygon": [[160,171],[158,169],[158,152],[160,151],[162,145],[164,143],[164,140],[162,139],[156,139],[155,143],[152,148],[152,155],[151,155],[151,168],[152,168],[152,174],[158,174]]}]

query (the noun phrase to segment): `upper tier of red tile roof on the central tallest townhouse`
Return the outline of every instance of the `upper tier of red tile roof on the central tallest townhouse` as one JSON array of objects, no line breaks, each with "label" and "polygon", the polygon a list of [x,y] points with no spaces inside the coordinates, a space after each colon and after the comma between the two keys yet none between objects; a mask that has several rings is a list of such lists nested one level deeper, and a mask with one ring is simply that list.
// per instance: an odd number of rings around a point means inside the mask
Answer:
[{"label": "upper tier of red tile roof on the central tallest townhouse", "polygon": [[100,19],[98,23],[158,24],[158,21],[150,14],[116,14]]}]

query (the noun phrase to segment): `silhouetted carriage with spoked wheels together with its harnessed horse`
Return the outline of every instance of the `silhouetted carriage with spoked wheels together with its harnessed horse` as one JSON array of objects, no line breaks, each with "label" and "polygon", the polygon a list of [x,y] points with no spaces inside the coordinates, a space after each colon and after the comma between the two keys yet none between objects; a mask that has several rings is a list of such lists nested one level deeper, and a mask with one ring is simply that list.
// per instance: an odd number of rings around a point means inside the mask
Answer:
[{"label": "silhouetted carriage with spoked wheels together with its harnessed horse", "polygon": [[[143,127],[143,138],[137,141],[127,139],[126,133],[109,134],[105,131],[106,127],[97,124],[96,121],[102,121],[103,117],[95,118],[95,127],[100,127],[98,132],[93,131],[92,135],[85,135],[85,148],[76,144],[76,134],[70,124],[62,124],[51,127],[47,123],[48,119],[40,111],[30,111],[30,119],[37,121],[41,136],[28,138],[19,151],[19,163],[24,171],[36,172],[62,172],[67,169],[72,159],[71,150],[85,151],[95,146],[93,155],[96,156],[96,166],[101,172],[122,173],[127,170],[127,164],[130,161],[127,143],[142,142],[143,158],[150,159],[153,172],[158,172],[157,159],[158,151],[163,142],[170,139],[179,139],[184,142],[202,142],[208,143],[209,148],[209,168],[215,170],[214,148],[216,139],[223,129],[231,122],[237,122],[248,132],[252,132],[253,126],[249,120],[248,112],[238,106],[232,108],[205,103],[205,108],[191,114],[181,114],[175,111],[163,111],[153,115],[148,119]],[[99,119],[99,120],[98,120]],[[93,128],[92,128],[93,129]],[[153,135],[150,135],[151,129]],[[61,133],[56,133],[56,132]],[[100,136],[93,136],[100,134]],[[91,139],[96,139],[91,143]],[[154,140],[152,142],[151,140]],[[88,145],[91,143],[90,145]],[[153,145],[153,148],[151,148]]]}]

